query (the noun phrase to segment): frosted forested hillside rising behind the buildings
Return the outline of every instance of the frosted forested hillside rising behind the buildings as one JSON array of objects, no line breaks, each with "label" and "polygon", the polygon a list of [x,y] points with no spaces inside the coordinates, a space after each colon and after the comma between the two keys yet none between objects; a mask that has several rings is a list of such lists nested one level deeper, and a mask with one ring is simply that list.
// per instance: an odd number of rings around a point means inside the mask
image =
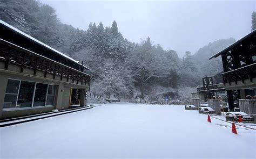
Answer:
[{"label": "frosted forested hillside rising behind the buildings", "polygon": [[171,98],[188,98],[203,76],[222,70],[220,59],[209,61],[208,57],[235,41],[218,40],[180,59],[176,51],[164,50],[150,38],[139,44],[125,39],[116,21],[107,27],[91,23],[86,31],[63,24],[51,6],[35,0],[1,0],[0,19],[84,61],[91,68],[91,91],[106,98],[156,97],[170,92]]}]

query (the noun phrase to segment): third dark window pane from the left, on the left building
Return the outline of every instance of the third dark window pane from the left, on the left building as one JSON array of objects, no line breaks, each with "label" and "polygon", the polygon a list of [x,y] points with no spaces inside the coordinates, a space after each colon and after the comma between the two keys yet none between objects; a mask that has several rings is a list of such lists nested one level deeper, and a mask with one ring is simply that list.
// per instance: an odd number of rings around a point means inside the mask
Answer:
[{"label": "third dark window pane from the left, on the left building", "polygon": [[44,106],[46,98],[47,84],[37,83],[33,106]]}]

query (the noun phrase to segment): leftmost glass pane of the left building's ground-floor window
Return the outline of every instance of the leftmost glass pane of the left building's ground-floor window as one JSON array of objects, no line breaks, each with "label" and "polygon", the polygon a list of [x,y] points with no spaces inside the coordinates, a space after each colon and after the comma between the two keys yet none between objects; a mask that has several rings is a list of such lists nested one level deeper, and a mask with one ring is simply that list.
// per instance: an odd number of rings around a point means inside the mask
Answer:
[{"label": "leftmost glass pane of the left building's ground-floor window", "polygon": [[3,108],[15,108],[21,81],[8,79]]}]

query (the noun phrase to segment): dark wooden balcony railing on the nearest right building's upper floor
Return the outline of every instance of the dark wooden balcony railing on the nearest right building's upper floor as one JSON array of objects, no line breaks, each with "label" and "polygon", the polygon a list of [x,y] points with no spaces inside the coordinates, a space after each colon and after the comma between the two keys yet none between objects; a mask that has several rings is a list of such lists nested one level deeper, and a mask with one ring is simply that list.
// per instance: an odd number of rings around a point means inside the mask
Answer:
[{"label": "dark wooden balcony railing on the nearest right building's upper floor", "polygon": [[256,77],[256,63],[227,71],[226,73],[223,73],[222,76],[224,84],[231,84],[231,82],[235,82],[235,84],[237,84],[238,81],[242,81],[242,83],[244,83],[245,79],[250,79],[252,82],[252,78]]}]

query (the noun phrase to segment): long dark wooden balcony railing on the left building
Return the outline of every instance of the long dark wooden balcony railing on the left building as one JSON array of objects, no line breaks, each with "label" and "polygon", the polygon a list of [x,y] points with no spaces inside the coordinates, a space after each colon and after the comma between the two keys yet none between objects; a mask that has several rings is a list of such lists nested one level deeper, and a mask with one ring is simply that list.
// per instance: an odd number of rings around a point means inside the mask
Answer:
[{"label": "long dark wooden balcony railing on the left building", "polygon": [[0,61],[4,62],[5,69],[8,69],[9,64],[15,64],[21,68],[21,73],[24,68],[30,68],[33,69],[33,75],[36,75],[37,71],[43,71],[44,77],[47,77],[47,74],[52,74],[53,79],[59,76],[61,81],[65,77],[66,82],[72,79],[72,83],[76,80],[77,84],[80,82],[80,84],[90,85],[90,75],[3,39],[0,39]]}]

